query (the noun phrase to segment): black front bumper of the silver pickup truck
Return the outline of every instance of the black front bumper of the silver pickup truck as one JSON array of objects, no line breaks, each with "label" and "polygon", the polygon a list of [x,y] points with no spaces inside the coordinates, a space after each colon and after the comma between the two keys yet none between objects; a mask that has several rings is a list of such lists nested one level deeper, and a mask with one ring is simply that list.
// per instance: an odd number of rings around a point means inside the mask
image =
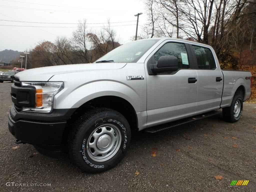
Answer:
[{"label": "black front bumper of the silver pickup truck", "polygon": [[51,114],[17,112],[12,106],[8,127],[17,140],[29,143],[42,154],[58,158],[67,119],[75,109],[53,110]]}]

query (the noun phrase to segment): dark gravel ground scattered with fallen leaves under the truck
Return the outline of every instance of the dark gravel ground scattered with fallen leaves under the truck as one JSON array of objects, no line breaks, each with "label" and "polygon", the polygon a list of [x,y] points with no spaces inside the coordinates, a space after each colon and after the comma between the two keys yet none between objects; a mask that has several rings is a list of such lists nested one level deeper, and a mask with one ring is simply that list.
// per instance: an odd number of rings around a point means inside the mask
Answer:
[{"label": "dark gravel ground scattered with fallen leaves under the truck", "polygon": [[[11,84],[0,83],[0,191],[256,191],[256,104],[244,103],[237,123],[219,114],[155,134],[139,132],[118,166],[86,174],[65,155],[53,159],[15,144],[7,125]],[[230,186],[232,180],[250,181]]]}]

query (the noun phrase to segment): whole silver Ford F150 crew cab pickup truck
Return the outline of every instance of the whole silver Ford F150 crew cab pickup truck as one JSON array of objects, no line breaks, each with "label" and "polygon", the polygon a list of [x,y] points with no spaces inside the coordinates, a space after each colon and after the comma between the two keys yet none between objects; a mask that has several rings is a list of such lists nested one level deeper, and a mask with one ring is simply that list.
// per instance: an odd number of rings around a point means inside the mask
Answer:
[{"label": "whole silver Ford F150 crew cab pickup truck", "polygon": [[121,161],[131,132],[161,131],[220,108],[224,120],[238,121],[251,87],[250,72],[221,70],[208,45],[144,39],[94,63],[19,72],[8,127],[17,143],[57,158],[66,148],[79,168],[99,173]]}]

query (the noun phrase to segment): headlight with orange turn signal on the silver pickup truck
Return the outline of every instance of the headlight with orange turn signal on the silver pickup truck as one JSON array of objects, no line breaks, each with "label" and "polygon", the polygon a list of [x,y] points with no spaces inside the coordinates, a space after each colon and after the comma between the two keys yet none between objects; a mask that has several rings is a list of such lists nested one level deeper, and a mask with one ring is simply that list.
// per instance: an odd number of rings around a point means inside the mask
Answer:
[{"label": "headlight with orange turn signal on the silver pickup truck", "polygon": [[23,87],[35,87],[35,108],[24,107],[22,111],[36,113],[50,113],[53,98],[64,88],[63,82],[21,82]]}]

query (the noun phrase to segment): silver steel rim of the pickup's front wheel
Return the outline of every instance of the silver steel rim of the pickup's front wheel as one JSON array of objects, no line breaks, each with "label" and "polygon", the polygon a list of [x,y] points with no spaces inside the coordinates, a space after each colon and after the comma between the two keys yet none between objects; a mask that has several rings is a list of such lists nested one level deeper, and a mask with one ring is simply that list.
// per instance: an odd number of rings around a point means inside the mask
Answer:
[{"label": "silver steel rim of the pickup's front wheel", "polygon": [[120,130],[113,124],[103,124],[89,136],[87,153],[93,161],[108,161],[118,152],[121,142]]}]

